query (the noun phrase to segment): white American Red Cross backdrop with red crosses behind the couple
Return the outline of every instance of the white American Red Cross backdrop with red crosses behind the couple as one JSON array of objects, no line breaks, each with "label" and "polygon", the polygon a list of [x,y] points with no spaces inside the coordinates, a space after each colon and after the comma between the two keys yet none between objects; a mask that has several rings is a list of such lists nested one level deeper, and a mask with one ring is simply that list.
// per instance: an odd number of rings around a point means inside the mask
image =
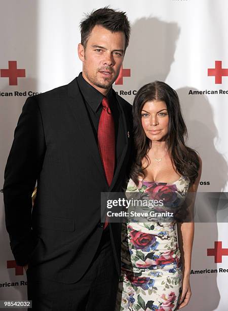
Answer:
[{"label": "white American Red Cross backdrop with red crosses behind the couple", "polygon": [[[199,151],[203,161],[199,191],[228,192],[226,0],[2,0],[0,300],[27,299],[26,274],[10,250],[3,201],[4,170],[18,117],[27,97],[78,76],[82,70],[77,54],[80,20],[84,13],[107,5],[126,11],[132,26],[123,68],[113,88],[133,103],[145,83],[161,80],[172,86],[187,125],[187,144]],[[186,310],[227,309],[226,202],[215,202],[212,222],[196,223],[193,295]],[[202,210],[207,212],[207,203]]]}]

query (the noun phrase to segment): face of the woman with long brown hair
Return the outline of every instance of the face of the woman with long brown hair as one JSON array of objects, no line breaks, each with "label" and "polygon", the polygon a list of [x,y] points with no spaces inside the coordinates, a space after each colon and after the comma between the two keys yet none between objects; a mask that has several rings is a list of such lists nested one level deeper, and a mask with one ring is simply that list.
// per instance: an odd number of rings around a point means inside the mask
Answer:
[{"label": "face of the woman with long brown hair", "polygon": [[141,111],[142,127],[151,141],[166,140],[169,127],[169,115],[164,101],[148,101]]}]

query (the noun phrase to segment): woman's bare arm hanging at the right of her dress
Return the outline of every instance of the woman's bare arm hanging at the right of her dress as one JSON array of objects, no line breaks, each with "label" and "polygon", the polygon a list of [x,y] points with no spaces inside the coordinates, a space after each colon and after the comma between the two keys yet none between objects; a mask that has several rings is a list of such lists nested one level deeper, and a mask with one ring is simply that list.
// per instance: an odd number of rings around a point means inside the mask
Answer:
[{"label": "woman's bare arm hanging at the right of her dress", "polygon": [[[198,171],[198,177],[195,183],[189,188],[189,192],[193,193],[194,198],[191,204],[192,215],[196,197],[194,194],[196,194],[197,192],[202,172],[202,161],[200,158],[199,161],[200,161],[200,168]],[[191,258],[192,258],[192,248],[194,238],[194,219],[192,219],[192,222],[178,223],[177,232],[178,232],[179,250],[182,258],[182,293],[178,305],[178,309],[181,309],[188,304],[189,299],[192,295],[189,283],[189,276],[191,272]]]}]

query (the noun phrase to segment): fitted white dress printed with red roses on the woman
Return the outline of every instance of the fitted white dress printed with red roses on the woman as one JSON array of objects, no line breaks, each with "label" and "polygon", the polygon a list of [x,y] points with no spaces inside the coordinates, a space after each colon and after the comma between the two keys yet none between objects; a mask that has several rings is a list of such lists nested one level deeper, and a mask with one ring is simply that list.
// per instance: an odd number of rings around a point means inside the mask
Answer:
[{"label": "fitted white dress printed with red roses on the woman", "polygon": [[[171,203],[181,204],[188,188],[189,180],[183,176],[172,184],[140,180],[138,187],[130,179],[126,194],[166,194]],[[127,222],[122,225],[121,247],[116,311],[176,310],[182,281],[176,222]]]}]

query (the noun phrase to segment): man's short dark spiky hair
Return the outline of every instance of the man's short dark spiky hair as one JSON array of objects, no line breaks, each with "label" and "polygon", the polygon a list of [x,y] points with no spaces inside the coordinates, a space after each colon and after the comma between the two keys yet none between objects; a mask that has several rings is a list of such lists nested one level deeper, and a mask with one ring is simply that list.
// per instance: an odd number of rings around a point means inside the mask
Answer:
[{"label": "man's short dark spiky hair", "polygon": [[80,23],[81,28],[81,43],[86,48],[90,33],[95,25],[103,26],[111,32],[123,32],[125,34],[125,51],[129,44],[130,37],[130,22],[126,12],[121,12],[108,7],[92,11],[86,14],[85,18]]}]

